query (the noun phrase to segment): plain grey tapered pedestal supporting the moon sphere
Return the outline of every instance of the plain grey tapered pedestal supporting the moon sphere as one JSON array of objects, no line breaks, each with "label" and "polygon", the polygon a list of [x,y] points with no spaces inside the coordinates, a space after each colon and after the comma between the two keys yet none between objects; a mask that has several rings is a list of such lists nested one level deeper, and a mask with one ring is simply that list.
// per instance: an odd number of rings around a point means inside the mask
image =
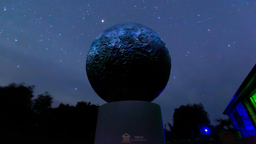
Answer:
[{"label": "plain grey tapered pedestal supporting the moon sphere", "polygon": [[94,144],[165,144],[160,106],[145,101],[119,101],[99,108]]}]

